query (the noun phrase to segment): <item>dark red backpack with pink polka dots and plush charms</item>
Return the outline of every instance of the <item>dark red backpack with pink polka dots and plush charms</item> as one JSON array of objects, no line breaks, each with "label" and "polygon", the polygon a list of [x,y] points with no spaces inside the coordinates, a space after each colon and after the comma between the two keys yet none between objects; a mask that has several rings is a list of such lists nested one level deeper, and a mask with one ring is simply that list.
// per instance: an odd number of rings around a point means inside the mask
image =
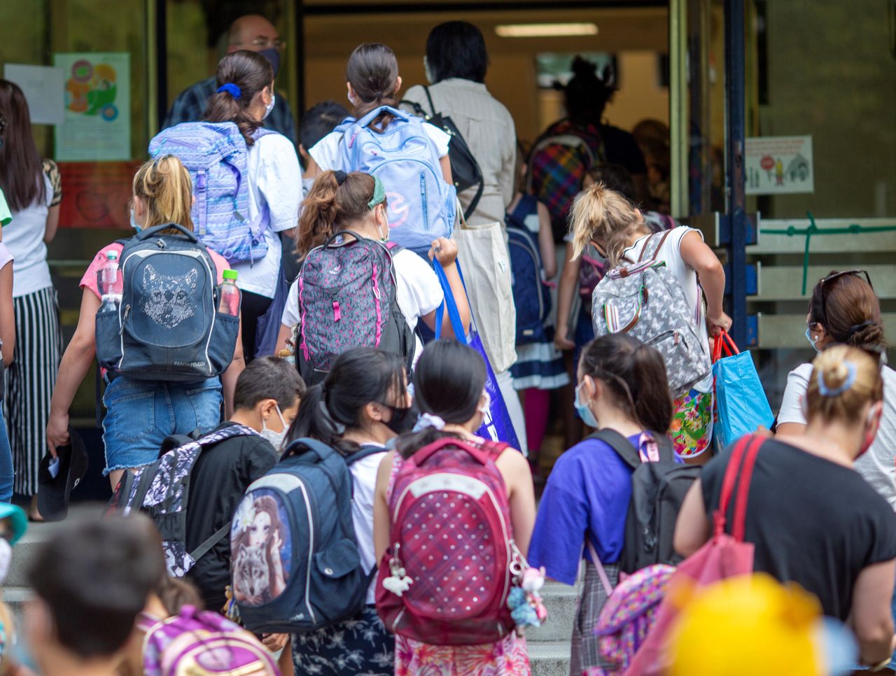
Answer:
[{"label": "dark red backpack with pink polka dots and plush charms", "polygon": [[[515,623],[507,607],[521,556],[504,479],[507,448],[443,438],[401,463],[389,500],[389,547],[376,611],[393,634],[438,646],[492,643]],[[410,580],[399,595],[392,584]]]}]

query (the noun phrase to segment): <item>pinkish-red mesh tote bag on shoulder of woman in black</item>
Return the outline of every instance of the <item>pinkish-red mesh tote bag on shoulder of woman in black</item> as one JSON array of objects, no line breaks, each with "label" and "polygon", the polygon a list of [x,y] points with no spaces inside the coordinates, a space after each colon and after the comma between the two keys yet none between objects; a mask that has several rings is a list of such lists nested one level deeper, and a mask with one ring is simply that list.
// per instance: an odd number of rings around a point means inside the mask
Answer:
[{"label": "pinkish-red mesh tote bag on shoulder of woman in black", "polygon": [[[708,543],[678,564],[668,583],[668,595],[659,604],[650,634],[634,655],[624,676],[660,676],[666,673],[667,641],[679,612],[675,602],[676,587],[710,586],[722,579],[750,575],[753,572],[754,546],[753,543],[744,542],[746,505],[753,467],[763,441],[761,437],[743,437],[731,451],[731,459],[722,480],[719,509],[716,509],[712,517],[712,537]],[[734,518],[731,535],[728,535],[725,533],[725,520],[732,497]]]}]

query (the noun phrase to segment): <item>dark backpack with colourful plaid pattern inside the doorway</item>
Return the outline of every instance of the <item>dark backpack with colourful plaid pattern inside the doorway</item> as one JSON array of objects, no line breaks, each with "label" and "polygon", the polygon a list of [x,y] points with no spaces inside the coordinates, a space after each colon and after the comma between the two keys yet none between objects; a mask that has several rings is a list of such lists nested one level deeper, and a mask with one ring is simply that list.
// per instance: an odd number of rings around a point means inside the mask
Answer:
[{"label": "dark backpack with colourful plaid pattern inside the doorway", "polygon": [[557,242],[566,232],[566,214],[582,190],[582,179],[606,155],[597,126],[568,119],[549,126],[533,144],[525,192],[547,205]]}]

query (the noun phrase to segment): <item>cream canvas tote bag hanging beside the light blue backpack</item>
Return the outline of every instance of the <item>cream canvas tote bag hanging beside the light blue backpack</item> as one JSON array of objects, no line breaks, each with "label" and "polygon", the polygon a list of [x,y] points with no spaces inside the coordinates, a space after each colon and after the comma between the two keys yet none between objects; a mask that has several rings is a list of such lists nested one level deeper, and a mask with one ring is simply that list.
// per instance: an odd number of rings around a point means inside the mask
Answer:
[{"label": "cream canvas tote bag hanging beside the light blue backpack", "polygon": [[461,227],[453,236],[457,260],[466,277],[470,310],[489,363],[495,372],[502,373],[516,362],[516,307],[504,228],[497,221],[470,226],[460,207],[458,213]]}]

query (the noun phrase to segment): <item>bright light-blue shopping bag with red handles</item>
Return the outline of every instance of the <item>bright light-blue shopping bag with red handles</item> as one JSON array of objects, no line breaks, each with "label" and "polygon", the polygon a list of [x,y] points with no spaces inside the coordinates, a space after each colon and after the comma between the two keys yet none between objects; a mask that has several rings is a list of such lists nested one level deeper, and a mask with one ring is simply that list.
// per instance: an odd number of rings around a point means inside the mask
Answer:
[{"label": "bright light-blue shopping bag with red handles", "polygon": [[[722,350],[728,356],[722,356]],[[753,355],[741,352],[728,333],[716,337],[712,349],[712,376],[716,389],[714,436],[719,448],[725,448],[760,425],[771,427],[775,416],[759,381]]]}]

